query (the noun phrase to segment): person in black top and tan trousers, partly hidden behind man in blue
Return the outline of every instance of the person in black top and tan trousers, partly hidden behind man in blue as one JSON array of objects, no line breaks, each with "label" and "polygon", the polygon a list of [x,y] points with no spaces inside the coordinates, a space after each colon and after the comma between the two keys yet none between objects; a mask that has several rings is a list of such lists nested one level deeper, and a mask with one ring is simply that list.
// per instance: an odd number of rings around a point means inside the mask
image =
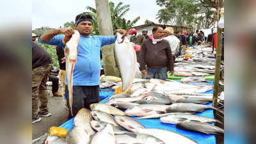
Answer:
[{"label": "person in black top and tan trousers, partly hidden behind man in blue", "polygon": [[59,78],[61,81],[61,95],[64,104],[67,106],[67,100],[64,98],[64,93],[65,93],[65,76],[66,76],[66,63],[63,63],[63,58],[65,58],[63,48],[61,46],[56,47],[56,54],[58,56],[58,61],[60,65],[60,72],[59,72]]}]

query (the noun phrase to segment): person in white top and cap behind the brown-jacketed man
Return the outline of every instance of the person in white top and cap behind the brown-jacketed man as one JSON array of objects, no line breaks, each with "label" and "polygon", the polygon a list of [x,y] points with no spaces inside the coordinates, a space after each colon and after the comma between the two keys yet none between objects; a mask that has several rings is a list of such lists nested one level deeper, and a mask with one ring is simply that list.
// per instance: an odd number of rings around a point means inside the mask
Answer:
[{"label": "person in white top and cap behind the brown-jacketed man", "polygon": [[173,61],[175,61],[180,48],[180,40],[173,35],[174,31],[172,27],[164,29],[164,32],[166,33],[166,37],[164,37],[164,40],[167,40],[169,42],[172,50]]}]

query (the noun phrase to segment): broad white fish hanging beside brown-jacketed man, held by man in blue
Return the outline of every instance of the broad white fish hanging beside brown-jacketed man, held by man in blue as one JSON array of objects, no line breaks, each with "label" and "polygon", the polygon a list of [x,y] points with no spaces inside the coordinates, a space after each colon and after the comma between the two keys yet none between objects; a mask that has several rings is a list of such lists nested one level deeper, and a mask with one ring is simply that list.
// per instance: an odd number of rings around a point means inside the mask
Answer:
[{"label": "broad white fish hanging beside brown-jacketed man, held by man in blue", "polygon": [[124,40],[122,35],[117,33],[115,42],[115,56],[118,67],[122,76],[122,92],[127,91],[131,85],[136,74],[137,58],[132,44],[125,36]]}]

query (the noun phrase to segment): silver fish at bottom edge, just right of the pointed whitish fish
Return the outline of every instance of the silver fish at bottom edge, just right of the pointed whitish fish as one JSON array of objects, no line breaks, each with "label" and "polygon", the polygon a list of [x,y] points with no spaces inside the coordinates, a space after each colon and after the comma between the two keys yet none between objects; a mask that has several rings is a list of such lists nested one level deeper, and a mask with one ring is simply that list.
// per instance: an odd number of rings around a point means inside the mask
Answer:
[{"label": "silver fish at bottom edge, just right of the pointed whitish fish", "polygon": [[134,144],[134,143],[147,143],[147,144],[164,144],[163,141],[159,140],[154,136],[140,133],[127,133],[116,135],[118,144]]}]

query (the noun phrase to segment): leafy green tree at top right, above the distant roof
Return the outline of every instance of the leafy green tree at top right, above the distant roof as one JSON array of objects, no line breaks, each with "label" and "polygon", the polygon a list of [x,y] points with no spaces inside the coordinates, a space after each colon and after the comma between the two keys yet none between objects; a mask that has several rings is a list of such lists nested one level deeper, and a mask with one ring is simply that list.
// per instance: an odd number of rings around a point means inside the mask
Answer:
[{"label": "leafy green tree at top right, above the distant roof", "polygon": [[214,1],[211,0],[157,0],[164,6],[157,13],[157,19],[164,24],[209,28],[214,15]]}]

